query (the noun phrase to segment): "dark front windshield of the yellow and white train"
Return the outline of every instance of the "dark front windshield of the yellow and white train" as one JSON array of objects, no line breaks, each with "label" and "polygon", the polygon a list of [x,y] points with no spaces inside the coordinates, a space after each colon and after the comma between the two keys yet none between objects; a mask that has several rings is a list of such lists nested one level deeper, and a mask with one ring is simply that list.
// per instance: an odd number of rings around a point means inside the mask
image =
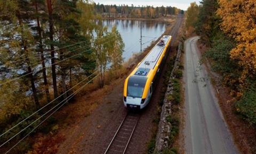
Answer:
[{"label": "dark front windshield of the yellow and white train", "polygon": [[146,77],[130,76],[128,80],[127,96],[141,98],[146,81]]}]

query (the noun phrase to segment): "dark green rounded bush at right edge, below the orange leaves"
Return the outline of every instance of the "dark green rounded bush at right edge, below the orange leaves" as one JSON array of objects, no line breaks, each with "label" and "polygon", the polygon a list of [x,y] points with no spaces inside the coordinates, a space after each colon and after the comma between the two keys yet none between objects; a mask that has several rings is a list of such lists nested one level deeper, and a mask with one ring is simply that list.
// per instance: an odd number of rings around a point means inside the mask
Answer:
[{"label": "dark green rounded bush at right edge, below the orange leaves", "polygon": [[256,88],[255,85],[245,91],[236,104],[236,110],[250,124],[256,124]]}]

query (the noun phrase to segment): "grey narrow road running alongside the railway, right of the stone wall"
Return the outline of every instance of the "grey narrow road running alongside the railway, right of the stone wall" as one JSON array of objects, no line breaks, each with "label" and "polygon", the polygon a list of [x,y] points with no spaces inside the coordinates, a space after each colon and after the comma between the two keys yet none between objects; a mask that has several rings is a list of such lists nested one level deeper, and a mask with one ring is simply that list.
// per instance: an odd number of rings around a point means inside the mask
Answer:
[{"label": "grey narrow road running alongside the railway, right of the stone wall", "polygon": [[185,152],[239,153],[221,113],[196,42],[185,41]]}]

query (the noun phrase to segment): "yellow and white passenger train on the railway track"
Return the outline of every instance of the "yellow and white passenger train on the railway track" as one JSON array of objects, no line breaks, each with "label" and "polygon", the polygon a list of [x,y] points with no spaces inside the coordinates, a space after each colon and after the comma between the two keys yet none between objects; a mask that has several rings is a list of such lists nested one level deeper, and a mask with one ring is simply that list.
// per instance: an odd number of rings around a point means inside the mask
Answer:
[{"label": "yellow and white passenger train on the railway track", "polygon": [[124,105],[131,109],[147,106],[153,93],[153,85],[169,51],[171,36],[163,36],[137,65],[124,82]]}]

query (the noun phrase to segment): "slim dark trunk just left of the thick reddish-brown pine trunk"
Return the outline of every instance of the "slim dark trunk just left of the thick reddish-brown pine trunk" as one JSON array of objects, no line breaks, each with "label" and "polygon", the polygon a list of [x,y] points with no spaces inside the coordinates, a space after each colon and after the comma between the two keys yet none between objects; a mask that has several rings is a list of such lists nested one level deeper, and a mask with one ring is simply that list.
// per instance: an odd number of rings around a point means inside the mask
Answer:
[{"label": "slim dark trunk just left of the thick reddish-brown pine trunk", "polygon": [[[35,7],[36,7],[36,13],[38,13],[37,2],[35,2]],[[37,32],[38,32],[38,37],[39,37],[39,52],[41,53],[41,61],[42,61],[42,67],[43,67],[45,95],[47,98],[47,102],[50,102],[51,100],[50,100],[50,94],[49,94],[47,76],[46,76],[46,69],[45,69],[45,62],[44,62],[45,58],[44,58],[44,49],[43,49],[43,41],[42,41],[42,29],[41,29],[41,25],[40,25],[38,16],[36,18],[36,21],[37,21]]]}]

